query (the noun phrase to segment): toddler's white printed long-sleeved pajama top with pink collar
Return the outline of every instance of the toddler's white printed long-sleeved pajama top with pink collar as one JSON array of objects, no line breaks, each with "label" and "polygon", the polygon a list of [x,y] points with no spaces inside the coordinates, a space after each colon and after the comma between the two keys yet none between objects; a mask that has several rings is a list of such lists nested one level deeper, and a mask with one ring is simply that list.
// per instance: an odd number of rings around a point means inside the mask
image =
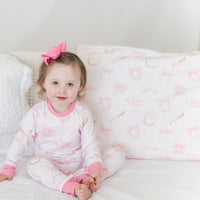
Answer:
[{"label": "toddler's white printed long-sleeved pajama top with pink collar", "polygon": [[4,166],[16,167],[30,142],[35,155],[89,167],[102,163],[90,111],[74,101],[65,113],[56,113],[50,101],[33,106],[21,122]]}]

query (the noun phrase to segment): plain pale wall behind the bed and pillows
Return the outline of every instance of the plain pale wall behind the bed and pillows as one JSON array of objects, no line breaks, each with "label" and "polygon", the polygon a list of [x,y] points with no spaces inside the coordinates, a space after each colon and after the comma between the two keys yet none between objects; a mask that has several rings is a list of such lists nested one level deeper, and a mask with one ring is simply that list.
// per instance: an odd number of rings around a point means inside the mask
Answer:
[{"label": "plain pale wall behind the bed and pillows", "polygon": [[0,0],[0,52],[67,41],[163,52],[200,47],[200,0]]}]

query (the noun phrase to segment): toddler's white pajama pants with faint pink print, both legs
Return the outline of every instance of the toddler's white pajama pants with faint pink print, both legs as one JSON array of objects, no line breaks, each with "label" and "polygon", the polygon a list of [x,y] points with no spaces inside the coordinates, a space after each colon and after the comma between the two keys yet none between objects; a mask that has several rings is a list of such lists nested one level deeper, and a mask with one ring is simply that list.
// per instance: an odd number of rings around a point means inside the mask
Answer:
[{"label": "toddler's white pajama pants with faint pink print, both legs", "polygon": [[[125,161],[125,153],[117,148],[107,149],[102,153],[101,180],[117,172]],[[71,178],[80,182],[88,172],[80,162],[69,162],[63,159],[34,157],[28,162],[27,171],[30,177],[48,188],[62,192],[64,184]]]}]

